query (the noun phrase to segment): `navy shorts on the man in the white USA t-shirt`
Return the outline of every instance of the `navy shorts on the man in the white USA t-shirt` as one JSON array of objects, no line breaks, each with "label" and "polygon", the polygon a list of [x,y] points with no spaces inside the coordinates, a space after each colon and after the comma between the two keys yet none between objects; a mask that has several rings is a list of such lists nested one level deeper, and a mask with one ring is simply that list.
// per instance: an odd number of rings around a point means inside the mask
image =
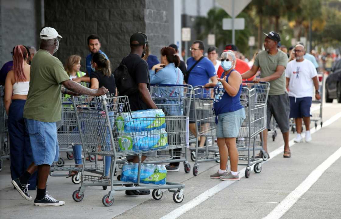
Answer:
[{"label": "navy shorts on the man in the white USA t-shirt", "polygon": [[290,118],[311,117],[312,97],[290,98]]}]

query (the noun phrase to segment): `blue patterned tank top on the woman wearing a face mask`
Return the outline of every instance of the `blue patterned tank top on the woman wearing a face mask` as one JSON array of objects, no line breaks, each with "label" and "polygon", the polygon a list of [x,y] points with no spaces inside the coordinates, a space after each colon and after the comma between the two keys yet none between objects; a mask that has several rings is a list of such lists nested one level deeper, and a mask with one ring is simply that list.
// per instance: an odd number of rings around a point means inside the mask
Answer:
[{"label": "blue patterned tank top on the woman wearing a face mask", "polygon": [[[228,77],[233,71],[235,70],[233,69],[230,73],[227,74],[226,82],[228,82]],[[224,77],[224,74],[222,74],[221,78],[223,77]],[[241,87],[242,87],[242,84],[240,84],[239,86],[239,91],[237,95],[232,97],[228,95],[228,93],[225,91],[223,84],[220,81],[218,81],[218,83],[214,87],[214,100],[213,100],[213,109],[216,115],[219,115],[221,113],[226,113],[226,112],[234,112],[243,108],[243,106],[240,103]]]}]

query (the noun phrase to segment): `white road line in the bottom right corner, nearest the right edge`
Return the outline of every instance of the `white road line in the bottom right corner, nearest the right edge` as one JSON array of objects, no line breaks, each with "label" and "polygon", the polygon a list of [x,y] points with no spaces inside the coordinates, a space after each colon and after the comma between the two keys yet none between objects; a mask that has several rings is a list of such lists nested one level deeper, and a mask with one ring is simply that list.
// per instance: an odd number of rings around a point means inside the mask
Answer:
[{"label": "white road line in the bottom right corner, nearest the right edge", "polygon": [[289,210],[297,202],[297,200],[310,189],[310,187],[312,187],[312,185],[322,176],[326,169],[328,169],[340,157],[341,148],[329,156],[329,158],[320,164],[320,166],[314,169],[294,191],[286,196],[285,199],[281,201],[281,203],[263,219],[278,219],[282,217],[286,211]]}]

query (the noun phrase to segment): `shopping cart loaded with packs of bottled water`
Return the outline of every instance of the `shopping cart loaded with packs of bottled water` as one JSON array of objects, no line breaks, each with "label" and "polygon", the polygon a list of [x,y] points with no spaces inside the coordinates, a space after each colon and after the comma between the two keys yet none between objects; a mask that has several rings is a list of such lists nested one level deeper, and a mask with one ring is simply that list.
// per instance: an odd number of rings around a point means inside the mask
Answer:
[{"label": "shopping cart loaded with packs of bottled water", "polygon": [[[168,189],[168,191],[173,192],[173,200],[176,203],[182,202],[184,184],[167,182],[165,185],[155,185],[140,182],[141,157],[142,153],[145,152],[189,147],[188,117],[165,116],[155,118],[131,118],[127,96],[80,96],[73,98],[73,104],[84,152],[93,155],[111,156],[113,158],[110,164],[111,171],[109,177],[85,174],[81,176],[81,186],[78,190],[74,191],[72,195],[75,201],[78,202],[83,200],[85,188],[88,186],[102,186],[103,189],[110,186],[109,193],[104,195],[102,199],[104,206],[111,206],[114,203],[115,191],[144,189],[153,189],[152,197],[155,200],[161,199],[163,194],[162,190]],[[76,109],[76,106],[80,106],[81,109]],[[158,131],[160,130],[157,129],[155,129],[156,131],[147,130],[144,131],[144,133],[139,132],[140,134],[135,132],[123,132],[122,130],[124,130],[124,125],[126,124],[121,120],[123,112],[127,112],[130,115],[131,119],[128,123],[132,125],[132,127],[139,127],[145,123],[162,123],[164,121],[166,125],[166,134],[163,132],[158,134]],[[80,116],[80,113],[82,116]],[[176,129],[174,127],[176,127]],[[126,141],[128,139],[132,139],[132,141],[135,142],[135,140],[142,138],[144,139],[143,142],[147,143],[147,146],[150,146],[153,144],[152,139],[155,139],[155,135],[157,135],[157,138],[160,138],[161,141],[161,143],[156,144],[158,146],[155,148],[143,148],[137,141],[134,143],[135,146],[133,149],[130,147],[121,147],[123,143],[127,143]],[[165,136],[167,136],[166,139]],[[130,146],[130,143],[128,146]],[[137,182],[114,180],[113,167],[116,166],[119,157],[125,157],[127,155],[138,155],[139,157]],[[82,172],[84,172],[84,166]]]}]

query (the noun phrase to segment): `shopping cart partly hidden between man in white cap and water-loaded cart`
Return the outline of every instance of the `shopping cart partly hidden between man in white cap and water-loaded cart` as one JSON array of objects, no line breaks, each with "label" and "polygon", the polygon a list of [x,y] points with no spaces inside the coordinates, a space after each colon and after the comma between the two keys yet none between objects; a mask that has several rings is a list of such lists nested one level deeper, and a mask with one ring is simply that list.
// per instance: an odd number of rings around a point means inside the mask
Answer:
[{"label": "shopping cart partly hidden between man in white cap and water-loaded cart", "polygon": [[[62,115],[61,120],[56,123],[57,138],[60,152],[72,151],[72,146],[81,145],[80,136],[78,132],[78,125],[75,116],[75,111],[70,97],[62,97]],[[80,115],[81,116],[81,115]],[[85,171],[93,173],[103,173],[103,165],[85,164]],[[76,165],[65,165],[64,160],[59,157],[58,162],[54,162],[50,168],[50,176],[69,176],[71,171],[77,171],[78,174],[71,177],[74,184],[80,183],[82,167]],[[64,173],[61,173],[64,172]],[[68,172],[69,174],[65,173]]]}]

